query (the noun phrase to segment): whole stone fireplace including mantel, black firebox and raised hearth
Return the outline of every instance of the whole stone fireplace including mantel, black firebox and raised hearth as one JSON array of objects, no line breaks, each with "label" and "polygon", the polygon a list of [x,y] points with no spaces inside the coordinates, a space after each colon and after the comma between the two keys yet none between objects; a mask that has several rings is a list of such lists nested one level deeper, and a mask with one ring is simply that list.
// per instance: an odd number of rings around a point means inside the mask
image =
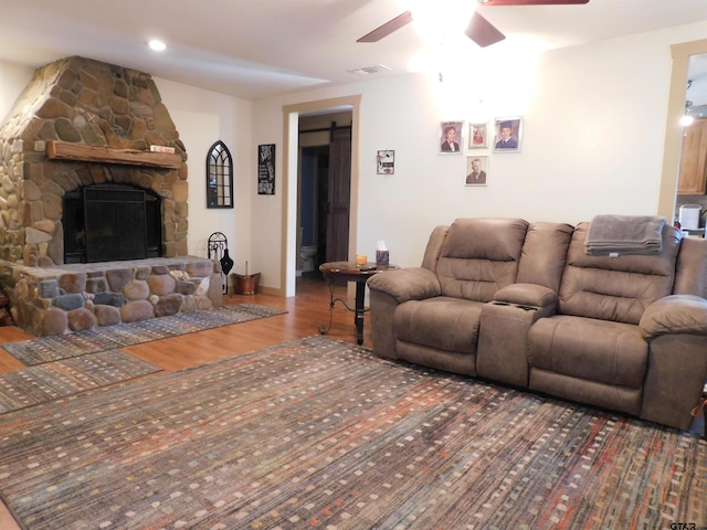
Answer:
[{"label": "whole stone fireplace including mantel, black firebox and raised hearth", "polygon": [[186,161],[149,74],[84,57],[38,68],[0,125],[15,324],[56,335],[220,304],[220,271],[187,255]]}]

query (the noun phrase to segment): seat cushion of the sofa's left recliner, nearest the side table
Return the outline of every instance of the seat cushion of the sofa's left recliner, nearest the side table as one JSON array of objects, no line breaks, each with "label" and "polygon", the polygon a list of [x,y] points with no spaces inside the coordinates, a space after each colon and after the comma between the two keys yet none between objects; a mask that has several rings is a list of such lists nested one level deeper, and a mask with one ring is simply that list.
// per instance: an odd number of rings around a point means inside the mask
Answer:
[{"label": "seat cushion of the sofa's left recliner, nearest the side table", "polygon": [[395,309],[395,338],[437,350],[475,353],[483,304],[439,296]]}]

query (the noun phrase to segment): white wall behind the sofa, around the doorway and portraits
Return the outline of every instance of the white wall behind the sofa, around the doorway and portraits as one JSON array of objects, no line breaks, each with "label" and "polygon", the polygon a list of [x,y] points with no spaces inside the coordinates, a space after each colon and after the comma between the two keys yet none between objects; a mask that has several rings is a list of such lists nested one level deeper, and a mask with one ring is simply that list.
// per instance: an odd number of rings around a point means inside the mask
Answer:
[{"label": "white wall behind the sofa, around the doorway and portraits", "polygon": [[[357,252],[386,240],[391,262],[420,264],[430,231],[457,216],[578,223],[599,213],[657,211],[671,44],[701,39],[707,22],[548,52],[538,61],[469,61],[445,72],[381,77],[254,104],[253,142],[283,144],[283,105],[360,94]],[[521,152],[489,156],[487,187],[464,187],[465,157],[439,155],[440,121],[523,116]],[[466,131],[465,131],[466,135]],[[466,139],[466,137],[465,137]],[[376,152],[395,150],[395,173],[376,174]],[[282,174],[282,158],[277,172]],[[279,205],[254,209],[253,226],[279,235]],[[281,261],[278,237],[254,262]],[[274,271],[273,271],[274,272]],[[267,275],[268,286],[278,277]]]}]

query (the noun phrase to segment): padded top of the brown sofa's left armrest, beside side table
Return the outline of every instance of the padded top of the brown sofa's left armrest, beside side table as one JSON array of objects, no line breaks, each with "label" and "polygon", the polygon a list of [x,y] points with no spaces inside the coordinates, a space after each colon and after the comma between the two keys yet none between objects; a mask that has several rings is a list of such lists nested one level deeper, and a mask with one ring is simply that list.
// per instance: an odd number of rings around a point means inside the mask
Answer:
[{"label": "padded top of the brown sofa's left armrest, beside side table", "polygon": [[440,280],[432,271],[422,267],[401,268],[376,274],[368,278],[368,287],[392,296],[398,304],[440,296]]}]

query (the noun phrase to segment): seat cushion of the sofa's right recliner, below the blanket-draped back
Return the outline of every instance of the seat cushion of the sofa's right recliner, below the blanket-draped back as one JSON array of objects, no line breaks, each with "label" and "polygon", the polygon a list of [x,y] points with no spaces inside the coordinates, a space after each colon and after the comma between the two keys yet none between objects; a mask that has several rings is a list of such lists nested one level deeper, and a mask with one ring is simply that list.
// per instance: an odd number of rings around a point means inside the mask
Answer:
[{"label": "seat cushion of the sofa's right recliner, below the blanket-draped back", "polygon": [[643,385],[648,344],[637,326],[560,315],[535,322],[528,344],[530,367],[611,385]]}]

